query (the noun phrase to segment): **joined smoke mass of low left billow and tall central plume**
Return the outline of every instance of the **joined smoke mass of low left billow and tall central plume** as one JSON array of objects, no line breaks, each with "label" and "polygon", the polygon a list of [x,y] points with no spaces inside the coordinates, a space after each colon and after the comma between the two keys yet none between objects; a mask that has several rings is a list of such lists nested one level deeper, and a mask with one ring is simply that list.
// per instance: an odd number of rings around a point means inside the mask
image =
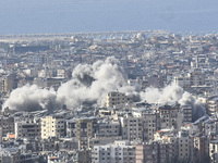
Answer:
[{"label": "joined smoke mass of low left billow and tall central plume", "polygon": [[55,110],[65,104],[69,109],[74,109],[84,101],[96,101],[97,105],[104,105],[107,92],[118,90],[136,98],[136,89],[137,87],[128,86],[120,62],[108,58],[93,65],[77,65],[72,73],[72,79],[62,84],[57,92],[40,89],[36,85],[17,88],[11,92],[3,108],[36,111]]}]

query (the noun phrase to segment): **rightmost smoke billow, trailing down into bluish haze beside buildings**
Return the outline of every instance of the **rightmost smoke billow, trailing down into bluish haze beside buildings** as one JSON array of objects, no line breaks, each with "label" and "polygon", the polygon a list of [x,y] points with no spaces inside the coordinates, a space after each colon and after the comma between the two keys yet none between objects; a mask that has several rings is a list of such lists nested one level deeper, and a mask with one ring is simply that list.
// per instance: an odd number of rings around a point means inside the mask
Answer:
[{"label": "rightmost smoke billow, trailing down into bluish haze beside buildings", "polygon": [[141,92],[141,98],[148,103],[167,104],[178,102],[181,105],[192,105],[194,120],[205,114],[205,109],[202,106],[201,101],[173,84],[162,89],[149,87],[145,92]]}]

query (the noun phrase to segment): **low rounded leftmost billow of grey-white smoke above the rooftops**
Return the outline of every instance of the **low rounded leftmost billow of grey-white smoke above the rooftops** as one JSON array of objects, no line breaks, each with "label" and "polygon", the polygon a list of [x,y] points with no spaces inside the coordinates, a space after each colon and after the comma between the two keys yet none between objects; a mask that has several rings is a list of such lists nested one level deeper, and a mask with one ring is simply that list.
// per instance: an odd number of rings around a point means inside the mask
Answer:
[{"label": "low rounded leftmost billow of grey-white smoke above the rooftops", "polygon": [[55,90],[40,89],[36,85],[26,85],[11,92],[3,104],[3,109],[7,106],[11,110],[37,111],[43,109],[55,110],[60,104],[57,102]]}]

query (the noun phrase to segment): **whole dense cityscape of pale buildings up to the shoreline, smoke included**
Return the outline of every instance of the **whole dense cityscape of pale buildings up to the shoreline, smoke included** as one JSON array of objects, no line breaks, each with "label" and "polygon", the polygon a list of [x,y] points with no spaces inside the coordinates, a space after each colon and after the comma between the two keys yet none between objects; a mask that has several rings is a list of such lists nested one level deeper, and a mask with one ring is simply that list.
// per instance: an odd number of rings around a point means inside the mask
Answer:
[{"label": "whole dense cityscape of pale buildings up to the shoreline, smoke included", "polygon": [[0,36],[0,163],[218,162],[218,34]]}]

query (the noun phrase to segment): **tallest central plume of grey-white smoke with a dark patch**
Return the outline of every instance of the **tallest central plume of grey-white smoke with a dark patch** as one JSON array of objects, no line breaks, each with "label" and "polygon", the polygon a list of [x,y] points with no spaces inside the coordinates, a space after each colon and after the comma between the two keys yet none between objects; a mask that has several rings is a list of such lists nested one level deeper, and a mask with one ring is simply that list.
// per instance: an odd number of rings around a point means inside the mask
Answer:
[{"label": "tallest central plume of grey-white smoke with a dark patch", "polygon": [[98,105],[104,105],[107,92],[114,90],[133,92],[134,89],[126,85],[126,76],[119,61],[108,58],[93,65],[76,66],[73,79],[63,84],[57,95],[58,100],[68,108],[75,108],[86,100],[97,101]]}]

